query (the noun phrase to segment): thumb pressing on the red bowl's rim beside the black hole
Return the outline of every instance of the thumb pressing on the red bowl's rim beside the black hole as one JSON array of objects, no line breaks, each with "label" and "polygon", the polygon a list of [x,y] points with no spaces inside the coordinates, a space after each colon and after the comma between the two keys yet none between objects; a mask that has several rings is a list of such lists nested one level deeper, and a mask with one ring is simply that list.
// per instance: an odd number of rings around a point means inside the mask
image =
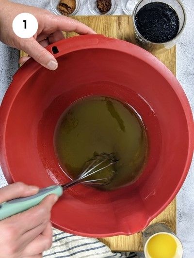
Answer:
[{"label": "thumb pressing on the red bowl's rim beside the black hole", "polygon": [[58,63],[53,55],[43,46],[41,46],[34,38],[24,41],[22,50],[31,56],[35,61],[49,70],[56,70]]}]

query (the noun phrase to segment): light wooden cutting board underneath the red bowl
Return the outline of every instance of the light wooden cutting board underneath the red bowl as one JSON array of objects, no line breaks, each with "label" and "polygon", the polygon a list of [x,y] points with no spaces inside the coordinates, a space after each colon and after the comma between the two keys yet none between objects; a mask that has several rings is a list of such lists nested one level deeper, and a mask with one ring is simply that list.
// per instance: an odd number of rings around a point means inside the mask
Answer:
[{"label": "light wooden cutting board underneath the red bowl", "polygon": [[[90,26],[98,34],[129,42],[132,41],[132,19],[130,16],[74,16],[73,18]],[[64,32],[64,35],[65,38],[69,38],[75,36],[76,33]],[[22,56],[27,55],[20,51],[20,57]],[[176,75],[176,47],[157,56],[157,58]],[[156,222],[166,223],[176,233],[176,199],[151,224]],[[143,251],[142,232],[131,236],[100,238],[100,241],[108,245],[112,251]]]}]

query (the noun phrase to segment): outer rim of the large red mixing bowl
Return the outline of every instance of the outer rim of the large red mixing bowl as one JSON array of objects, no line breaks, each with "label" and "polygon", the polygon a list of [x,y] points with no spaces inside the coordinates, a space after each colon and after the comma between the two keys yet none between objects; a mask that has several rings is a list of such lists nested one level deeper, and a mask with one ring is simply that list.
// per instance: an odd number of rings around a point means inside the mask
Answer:
[{"label": "outer rim of the large red mixing bowl", "polygon": [[[185,118],[187,121],[187,130],[188,130],[188,137],[189,137],[189,146],[187,150],[187,160],[185,161],[184,171],[182,173],[182,177],[175,188],[174,192],[172,193],[171,197],[162,205],[162,207],[155,212],[152,216],[150,216],[144,228],[148,226],[148,224],[158,216],[169,204],[170,202],[176,197],[178,191],[180,190],[187,173],[189,171],[192,156],[194,151],[194,121],[192,110],[189,104],[189,101],[186,97],[185,92],[183,91],[181,85],[179,84],[177,78],[173,75],[173,73],[156,57],[152,54],[147,52],[146,50],[142,49],[139,46],[135,46],[129,42],[108,38],[103,35],[81,35],[75,36],[68,39],[64,39],[53,43],[47,47],[50,53],[52,53],[52,47],[57,46],[60,50],[59,53],[54,54],[55,58],[61,57],[67,53],[71,53],[77,50],[82,49],[93,49],[93,48],[103,48],[103,49],[111,49],[116,51],[121,51],[123,53],[129,54],[133,57],[144,61],[149,66],[157,70],[161,76],[165,77],[167,82],[171,85],[172,89],[174,90],[175,94],[178,96],[180,104],[184,110]],[[53,53],[52,53],[53,54]],[[16,72],[13,76],[13,81],[10,84],[3,101],[0,106],[0,164],[4,176],[8,183],[14,182],[13,175],[10,172],[9,164],[6,157],[6,149],[5,149],[5,131],[6,131],[6,122],[9,117],[9,112],[11,106],[16,98],[17,93],[22,88],[23,84],[42,66],[37,63],[36,61],[32,60],[32,58],[27,61],[22,67]],[[45,68],[46,69],[46,68]],[[87,236],[87,237],[94,237],[91,233],[81,233],[75,230],[70,230],[68,228],[63,228],[56,223],[52,223],[54,227],[68,233],[80,235],[80,236]],[[117,235],[129,235],[126,232],[114,232],[114,233],[107,233],[107,234],[97,234],[95,237],[110,237],[110,236],[117,236]]]}]

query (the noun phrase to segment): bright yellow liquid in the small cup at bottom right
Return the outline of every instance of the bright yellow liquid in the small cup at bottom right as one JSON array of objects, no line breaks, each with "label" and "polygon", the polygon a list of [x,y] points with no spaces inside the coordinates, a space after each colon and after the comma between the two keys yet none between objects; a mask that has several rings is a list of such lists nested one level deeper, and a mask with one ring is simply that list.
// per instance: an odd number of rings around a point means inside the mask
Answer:
[{"label": "bright yellow liquid in the small cup at bottom right", "polygon": [[147,252],[151,258],[174,258],[177,243],[170,235],[158,234],[147,243]]}]

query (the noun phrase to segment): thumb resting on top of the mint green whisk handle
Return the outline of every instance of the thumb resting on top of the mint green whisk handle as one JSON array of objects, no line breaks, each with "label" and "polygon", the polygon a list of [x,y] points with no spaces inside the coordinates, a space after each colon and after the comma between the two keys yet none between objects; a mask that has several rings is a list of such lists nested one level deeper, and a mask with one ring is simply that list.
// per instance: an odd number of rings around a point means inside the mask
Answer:
[{"label": "thumb resting on top of the mint green whisk handle", "polygon": [[16,182],[0,188],[0,203],[19,197],[27,197],[37,194],[39,188],[33,185],[27,185],[22,182]]}]

